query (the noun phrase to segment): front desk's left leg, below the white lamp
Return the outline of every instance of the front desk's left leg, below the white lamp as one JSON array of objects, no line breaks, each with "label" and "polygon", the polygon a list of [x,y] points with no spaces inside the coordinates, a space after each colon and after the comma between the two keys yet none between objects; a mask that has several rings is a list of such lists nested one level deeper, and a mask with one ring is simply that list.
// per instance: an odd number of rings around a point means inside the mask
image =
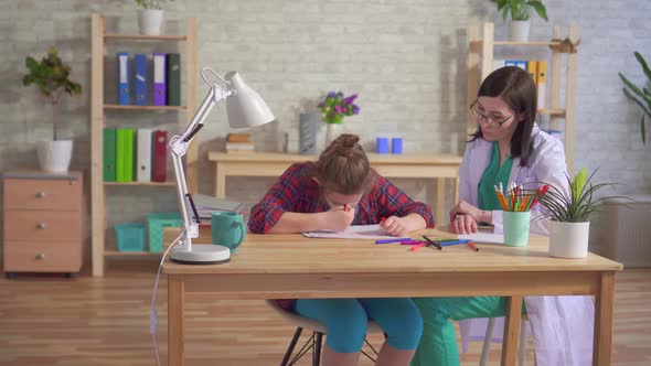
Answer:
[{"label": "front desk's left leg, below the white lamp", "polygon": [[183,281],[168,276],[168,365],[183,366],[185,363],[184,335],[185,320],[183,308],[185,289]]}]

